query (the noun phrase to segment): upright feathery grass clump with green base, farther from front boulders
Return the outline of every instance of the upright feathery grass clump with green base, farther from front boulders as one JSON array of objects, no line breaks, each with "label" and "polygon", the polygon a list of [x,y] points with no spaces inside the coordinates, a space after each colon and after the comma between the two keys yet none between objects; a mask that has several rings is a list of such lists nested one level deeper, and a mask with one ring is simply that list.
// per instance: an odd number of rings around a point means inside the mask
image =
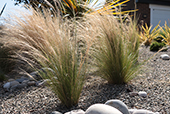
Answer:
[{"label": "upright feathery grass clump with green base, farther from front boulders", "polygon": [[139,37],[135,24],[119,23],[110,15],[91,15],[89,19],[97,35],[91,53],[99,75],[112,84],[132,80],[140,66],[136,64]]}]

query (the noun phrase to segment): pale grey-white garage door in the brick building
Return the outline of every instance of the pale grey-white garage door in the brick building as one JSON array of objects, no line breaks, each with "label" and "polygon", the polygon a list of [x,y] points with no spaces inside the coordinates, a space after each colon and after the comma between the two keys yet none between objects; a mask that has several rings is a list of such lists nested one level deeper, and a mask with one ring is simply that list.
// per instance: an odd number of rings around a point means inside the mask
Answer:
[{"label": "pale grey-white garage door in the brick building", "polygon": [[159,21],[160,26],[164,26],[165,21],[170,24],[170,6],[150,4],[150,23],[155,27]]}]

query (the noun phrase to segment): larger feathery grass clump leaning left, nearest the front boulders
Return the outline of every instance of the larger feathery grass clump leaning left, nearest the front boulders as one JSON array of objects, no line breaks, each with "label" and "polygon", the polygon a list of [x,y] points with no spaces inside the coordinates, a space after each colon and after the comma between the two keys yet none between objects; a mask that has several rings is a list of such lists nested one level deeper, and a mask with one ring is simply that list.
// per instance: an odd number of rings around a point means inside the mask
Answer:
[{"label": "larger feathery grass clump leaning left, nearest the front boulders", "polygon": [[[84,38],[88,37],[85,37],[88,29],[74,18],[52,17],[51,11],[45,9],[43,14],[32,9],[32,14],[23,13],[22,18],[16,17],[14,22],[16,24],[9,27],[13,35],[9,46],[18,47],[18,55],[28,64],[30,56],[42,67],[51,69],[40,75],[50,80],[49,86],[65,106],[76,105],[85,80],[90,40]],[[85,56],[81,53],[78,56],[80,39],[86,41]]]}]

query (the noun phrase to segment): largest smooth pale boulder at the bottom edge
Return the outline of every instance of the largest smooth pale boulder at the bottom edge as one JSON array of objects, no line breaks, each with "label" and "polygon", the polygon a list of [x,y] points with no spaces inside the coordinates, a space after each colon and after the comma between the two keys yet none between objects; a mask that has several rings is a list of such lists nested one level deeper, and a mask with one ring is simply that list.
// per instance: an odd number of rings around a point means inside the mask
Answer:
[{"label": "largest smooth pale boulder at the bottom edge", "polygon": [[105,104],[94,104],[91,105],[85,112],[85,114],[122,114],[118,109],[105,105]]}]

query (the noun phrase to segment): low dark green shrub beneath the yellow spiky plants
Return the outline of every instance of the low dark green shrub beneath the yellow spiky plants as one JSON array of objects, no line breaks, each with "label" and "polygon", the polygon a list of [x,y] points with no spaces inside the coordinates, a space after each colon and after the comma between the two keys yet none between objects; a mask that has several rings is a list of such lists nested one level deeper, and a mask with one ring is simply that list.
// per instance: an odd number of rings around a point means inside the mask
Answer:
[{"label": "low dark green shrub beneath the yellow spiky plants", "polygon": [[[158,51],[160,49],[162,49],[165,46],[165,43],[162,42],[152,42],[151,46],[150,46],[150,51]],[[166,50],[164,50],[166,51]]]}]

